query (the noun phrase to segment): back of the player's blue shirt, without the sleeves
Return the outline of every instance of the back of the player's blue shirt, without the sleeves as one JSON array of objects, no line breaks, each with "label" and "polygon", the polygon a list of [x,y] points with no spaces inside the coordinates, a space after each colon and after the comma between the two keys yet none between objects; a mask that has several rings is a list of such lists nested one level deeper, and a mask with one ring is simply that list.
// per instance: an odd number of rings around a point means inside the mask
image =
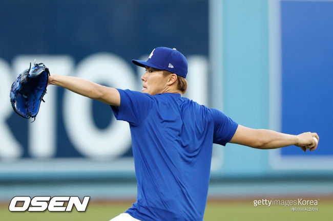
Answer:
[{"label": "back of the player's blue shirt, without the sleeves", "polygon": [[137,209],[154,211],[154,220],[202,220],[213,127],[209,108],[179,94],[154,96],[147,118],[131,127],[132,138],[144,140],[133,144],[135,160],[142,159]]}]

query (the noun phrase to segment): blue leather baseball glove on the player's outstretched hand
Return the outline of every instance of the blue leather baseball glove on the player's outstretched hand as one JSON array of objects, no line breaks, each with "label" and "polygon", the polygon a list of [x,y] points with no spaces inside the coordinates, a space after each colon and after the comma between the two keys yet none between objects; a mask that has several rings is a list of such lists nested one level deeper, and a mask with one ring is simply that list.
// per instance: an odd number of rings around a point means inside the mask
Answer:
[{"label": "blue leather baseball glove on the player's outstretched hand", "polygon": [[10,102],[14,111],[24,118],[34,118],[39,111],[40,101],[46,94],[49,69],[44,63],[34,62],[34,66],[19,74],[10,90]]}]

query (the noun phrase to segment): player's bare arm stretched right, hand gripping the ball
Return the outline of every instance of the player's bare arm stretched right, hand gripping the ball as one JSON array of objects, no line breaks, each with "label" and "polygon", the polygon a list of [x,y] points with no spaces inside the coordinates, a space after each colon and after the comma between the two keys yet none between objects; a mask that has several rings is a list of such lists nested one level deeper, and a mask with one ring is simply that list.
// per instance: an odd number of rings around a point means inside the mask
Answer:
[{"label": "player's bare arm stretched right, hand gripping the ball", "polygon": [[235,135],[230,143],[241,144],[258,149],[274,149],[290,145],[296,145],[306,151],[306,146],[310,147],[310,151],[317,148],[313,137],[319,137],[315,132],[304,132],[299,135],[288,135],[267,129],[252,129],[238,125]]}]

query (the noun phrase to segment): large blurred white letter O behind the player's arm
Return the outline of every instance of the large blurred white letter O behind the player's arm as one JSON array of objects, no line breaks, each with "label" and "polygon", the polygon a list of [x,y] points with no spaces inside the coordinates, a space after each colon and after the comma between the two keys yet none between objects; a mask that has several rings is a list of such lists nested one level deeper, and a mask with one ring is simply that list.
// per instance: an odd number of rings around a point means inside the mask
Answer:
[{"label": "large blurred white letter O behind the player's arm", "polygon": [[[116,55],[95,54],[77,65],[77,77],[93,82],[103,82],[121,89],[135,90],[135,77],[129,65]],[[131,145],[130,127],[127,122],[115,121],[99,129],[93,121],[92,100],[65,91],[64,122],[67,133],[76,149],[84,156],[114,158],[123,154]],[[113,115],[110,112],[105,113]]]}]

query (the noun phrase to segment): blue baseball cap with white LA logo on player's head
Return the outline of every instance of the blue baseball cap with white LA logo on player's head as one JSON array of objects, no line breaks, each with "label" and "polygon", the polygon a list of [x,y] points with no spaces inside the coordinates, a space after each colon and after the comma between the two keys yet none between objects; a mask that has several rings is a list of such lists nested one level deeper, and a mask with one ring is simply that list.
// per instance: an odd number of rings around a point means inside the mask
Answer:
[{"label": "blue baseball cap with white LA logo on player's head", "polygon": [[132,60],[132,62],[143,68],[148,66],[170,71],[184,78],[188,75],[188,61],[185,56],[175,48],[158,47],[152,51],[147,61]]}]

